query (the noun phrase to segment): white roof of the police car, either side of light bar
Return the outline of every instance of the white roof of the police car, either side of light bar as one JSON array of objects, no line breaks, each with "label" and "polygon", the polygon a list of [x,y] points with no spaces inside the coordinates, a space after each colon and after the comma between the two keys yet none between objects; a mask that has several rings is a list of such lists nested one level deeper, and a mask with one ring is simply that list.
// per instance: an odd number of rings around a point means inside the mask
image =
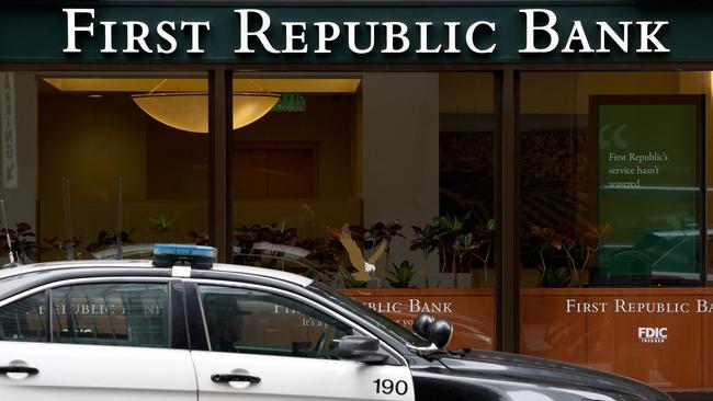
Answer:
[{"label": "white roof of the police car, either side of light bar", "polygon": [[[157,268],[152,265],[150,260],[88,260],[88,261],[65,261],[65,262],[47,262],[47,263],[33,263],[27,265],[19,265],[15,267],[8,267],[0,270],[0,279],[10,278],[27,273],[42,273],[56,270],[67,268],[92,268],[92,267],[144,267]],[[306,287],[312,284],[312,278],[299,276],[297,274],[276,271],[272,268],[239,266],[231,264],[214,263],[211,271],[238,273],[246,275],[253,275],[260,277],[275,278],[283,282],[296,284],[301,287]]]}]

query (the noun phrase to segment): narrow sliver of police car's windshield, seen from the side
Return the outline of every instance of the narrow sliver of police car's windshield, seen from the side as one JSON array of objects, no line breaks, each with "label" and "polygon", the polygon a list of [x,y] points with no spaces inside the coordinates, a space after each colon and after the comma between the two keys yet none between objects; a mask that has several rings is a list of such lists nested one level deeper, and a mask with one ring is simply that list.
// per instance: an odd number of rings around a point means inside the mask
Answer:
[{"label": "narrow sliver of police car's windshield, seen from the side", "polygon": [[406,328],[388,319],[387,317],[373,311],[369,307],[353,300],[352,298],[339,291],[333,290],[331,287],[322,283],[314,282],[312,285],[309,285],[308,288],[312,291],[319,294],[320,296],[329,298],[329,300],[338,303],[340,307],[343,307],[349,311],[359,314],[361,318],[369,320],[370,323],[376,325],[377,328],[388,333],[392,337],[397,339],[399,342],[401,342],[405,345],[412,345],[419,347],[431,345],[430,341],[414,334],[412,332],[408,331]]}]

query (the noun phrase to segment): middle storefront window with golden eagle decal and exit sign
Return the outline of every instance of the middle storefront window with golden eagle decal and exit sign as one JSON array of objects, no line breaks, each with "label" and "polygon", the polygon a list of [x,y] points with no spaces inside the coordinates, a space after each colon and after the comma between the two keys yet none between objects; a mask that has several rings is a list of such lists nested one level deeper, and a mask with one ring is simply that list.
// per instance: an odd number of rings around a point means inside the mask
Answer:
[{"label": "middle storefront window with golden eagle decal and exit sign", "polygon": [[313,276],[404,325],[451,318],[454,346],[493,348],[491,75],[236,75],[234,88],[279,95],[234,131],[234,261]]}]

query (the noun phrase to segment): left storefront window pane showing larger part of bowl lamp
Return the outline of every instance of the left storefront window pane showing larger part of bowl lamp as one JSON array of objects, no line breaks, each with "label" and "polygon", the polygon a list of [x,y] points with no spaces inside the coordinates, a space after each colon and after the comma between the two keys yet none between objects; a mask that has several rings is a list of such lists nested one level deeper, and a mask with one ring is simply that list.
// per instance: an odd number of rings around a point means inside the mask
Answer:
[{"label": "left storefront window pane showing larger part of bowl lamp", "polygon": [[148,257],[207,237],[206,79],[34,79],[36,260]]}]

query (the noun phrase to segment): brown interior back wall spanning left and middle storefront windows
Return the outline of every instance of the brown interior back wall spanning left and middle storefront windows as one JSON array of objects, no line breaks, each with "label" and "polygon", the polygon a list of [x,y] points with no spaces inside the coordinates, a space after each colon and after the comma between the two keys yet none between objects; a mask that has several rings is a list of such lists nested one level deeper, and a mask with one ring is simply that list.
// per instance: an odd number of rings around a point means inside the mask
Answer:
[{"label": "brown interior back wall spanning left and middle storefront windows", "polygon": [[[235,199],[236,225],[284,220],[297,227],[302,238],[314,238],[325,237],[328,226],[360,222],[352,182],[354,95],[307,96],[306,112],[269,113],[234,135],[236,144],[316,144],[316,197]],[[135,242],[186,242],[189,231],[207,231],[207,136],[152,121],[125,93],[93,99],[43,88],[38,121],[43,237],[68,236],[64,177],[70,185],[72,234],[86,243],[100,230],[115,232],[120,176],[123,228],[134,229]],[[171,195],[158,196],[157,187],[170,188]],[[150,218],[159,216],[172,220],[170,232],[159,236],[150,230]]]}]

